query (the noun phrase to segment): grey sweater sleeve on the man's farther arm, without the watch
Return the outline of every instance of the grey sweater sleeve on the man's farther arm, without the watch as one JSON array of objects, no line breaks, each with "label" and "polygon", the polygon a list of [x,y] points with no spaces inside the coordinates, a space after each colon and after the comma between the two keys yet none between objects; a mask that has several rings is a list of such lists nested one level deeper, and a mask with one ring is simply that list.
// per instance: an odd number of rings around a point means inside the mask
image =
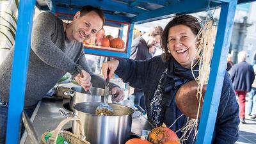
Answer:
[{"label": "grey sweater sleeve on the man's farther arm, without the watch", "polygon": [[[82,52],[81,57],[77,61],[77,64],[81,65],[81,67],[83,67],[83,69],[90,74],[90,76],[92,77],[91,83],[92,83],[93,87],[105,88],[106,81],[102,77],[100,77],[97,74],[94,74],[92,72],[91,68],[89,67],[89,65],[86,61],[84,52]],[[117,85],[114,83],[109,83],[109,90],[112,90],[112,88],[114,88],[116,86]]]}]

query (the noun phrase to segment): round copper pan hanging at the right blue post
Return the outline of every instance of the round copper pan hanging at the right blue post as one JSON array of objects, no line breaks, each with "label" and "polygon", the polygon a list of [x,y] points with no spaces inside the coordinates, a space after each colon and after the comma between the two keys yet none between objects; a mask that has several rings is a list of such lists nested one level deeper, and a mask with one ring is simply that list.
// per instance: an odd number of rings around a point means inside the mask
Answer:
[{"label": "round copper pan hanging at the right blue post", "polygon": [[[176,105],[180,109],[180,111],[188,116],[189,118],[196,118],[198,106],[199,106],[199,95],[198,98],[196,97],[197,93],[197,86],[198,84],[196,81],[189,81],[188,83],[182,85],[178,92],[176,93],[175,100]],[[206,91],[206,84],[203,86],[202,90],[202,96],[204,99]],[[203,99],[201,98],[200,103],[200,111],[199,111],[199,117],[201,115],[202,106],[203,106]]]}]

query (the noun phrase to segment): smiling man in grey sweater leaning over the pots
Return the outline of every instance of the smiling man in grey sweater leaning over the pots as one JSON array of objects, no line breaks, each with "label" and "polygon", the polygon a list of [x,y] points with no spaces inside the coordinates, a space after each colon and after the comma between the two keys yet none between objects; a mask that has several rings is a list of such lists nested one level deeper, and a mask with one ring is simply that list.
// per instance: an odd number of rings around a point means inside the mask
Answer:
[{"label": "smiling man in grey sweater leaning over the pots", "polygon": [[[95,36],[103,25],[103,12],[93,6],[83,6],[69,24],[50,12],[38,15],[33,23],[26,83],[24,109],[29,111],[28,115],[31,115],[44,94],[67,72],[85,90],[92,86],[104,88],[104,79],[93,74],[86,63],[82,43],[83,40]],[[13,49],[0,65],[0,143],[4,143],[6,133],[12,58]],[[82,71],[83,76],[78,70]],[[118,94],[114,99],[117,102],[124,99],[124,92],[115,84],[110,85],[110,90],[112,94]]]}]

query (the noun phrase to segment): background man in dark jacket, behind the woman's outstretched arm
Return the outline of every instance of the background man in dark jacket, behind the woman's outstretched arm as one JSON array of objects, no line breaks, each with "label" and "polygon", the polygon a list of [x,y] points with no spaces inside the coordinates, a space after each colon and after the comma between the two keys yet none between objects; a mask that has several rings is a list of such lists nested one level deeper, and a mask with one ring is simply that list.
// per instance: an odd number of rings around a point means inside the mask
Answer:
[{"label": "background man in dark jacket, behind the woman's outstretched arm", "polygon": [[[130,58],[132,60],[147,60],[148,58],[152,58],[156,45],[160,44],[162,33],[163,28],[161,26],[156,26],[151,28],[148,33],[135,38],[132,42]],[[141,108],[145,109],[143,90],[135,88],[133,95],[134,104],[137,104],[141,106]]]}]

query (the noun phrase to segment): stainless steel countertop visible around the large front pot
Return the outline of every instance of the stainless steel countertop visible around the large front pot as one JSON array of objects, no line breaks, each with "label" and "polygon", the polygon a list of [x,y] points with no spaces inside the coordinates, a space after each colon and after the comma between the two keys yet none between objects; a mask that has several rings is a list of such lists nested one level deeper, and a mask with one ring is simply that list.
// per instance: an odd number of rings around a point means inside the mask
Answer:
[{"label": "stainless steel countertop visible around the large front pot", "polygon": [[[40,138],[45,131],[56,129],[57,125],[60,124],[61,120],[64,119],[64,117],[59,112],[60,108],[63,108],[63,102],[43,100],[42,103],[39,104],[40,105],[38,105],[38,111],[33,113],[33,115],[35,115],[33,125],[38,134],[38,138]],[[122,102],[122,104],[132,108],[132,105],[128,102],[128,100],[125,100]],[[140,112],[135,111],[132,116],[138,115],[140,115]],[[71,123],[69,125],[65,125],[64,129],[70,127],[72,127]],[[140,136],[142,129],[152,129],[152,126],[147,122],[147,118],[145,116],[140,116],[140,118],[133,119],[131,131]],[[24,136],[24,141],[21,142],[21,144],[33,144],[31,143],[31,140],[26,136]]]}]

